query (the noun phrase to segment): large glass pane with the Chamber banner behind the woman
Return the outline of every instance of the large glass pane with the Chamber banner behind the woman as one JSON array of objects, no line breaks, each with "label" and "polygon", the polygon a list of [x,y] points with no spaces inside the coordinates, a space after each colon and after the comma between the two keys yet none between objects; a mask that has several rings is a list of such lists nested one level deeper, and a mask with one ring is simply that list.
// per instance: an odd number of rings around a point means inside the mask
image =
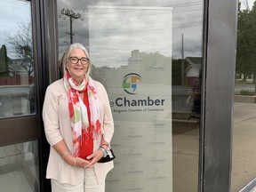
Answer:
[{"label": "large glass pane with the Chamber banner behind the woman", "polygon": [[204,1],[57,5],[60,53],[84,44],[92,78],[108,92],[116,124],[108,190],[197,191]]}]

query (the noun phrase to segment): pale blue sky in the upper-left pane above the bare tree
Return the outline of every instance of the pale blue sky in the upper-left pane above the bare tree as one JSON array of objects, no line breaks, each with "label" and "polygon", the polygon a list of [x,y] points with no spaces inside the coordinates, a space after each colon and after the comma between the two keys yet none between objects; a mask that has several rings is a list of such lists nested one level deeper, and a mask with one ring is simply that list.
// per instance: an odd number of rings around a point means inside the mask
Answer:
[{"label": "pale blue sky in the upper-left pane above the bare tree", "polygon": [[31,23],[30,2],[21,0],[0,1],[0,46],[7,47],[8,57],[12,55],[12,46],[8,43],[8,36],[16,34],[19,30],[19,23]]}]

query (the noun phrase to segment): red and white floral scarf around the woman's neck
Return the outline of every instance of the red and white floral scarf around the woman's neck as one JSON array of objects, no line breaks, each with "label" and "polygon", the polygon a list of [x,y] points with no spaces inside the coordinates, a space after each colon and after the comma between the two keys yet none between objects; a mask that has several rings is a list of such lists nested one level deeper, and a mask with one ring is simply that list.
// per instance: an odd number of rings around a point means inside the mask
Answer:
[{"label": "red and white floral scarf around the woman's neck", "polygon": [[[95,86],[92,84],[92,78],[88,76],[87,81],[85,78],[82,84],[78,85],[69,75],[68,71],[64,74],[64,87],[68,94],[68,110],[73,133],[74,156],[80,155],[82,130],[84,129],[85,132],[89,131],[87,110],[90,110],[91,113],[93,151],[99,149],[101,143],[100,110],[97,92]],[[85,107],[84,101],[79,97],[79,92],[88,94],[89,108]]]}]

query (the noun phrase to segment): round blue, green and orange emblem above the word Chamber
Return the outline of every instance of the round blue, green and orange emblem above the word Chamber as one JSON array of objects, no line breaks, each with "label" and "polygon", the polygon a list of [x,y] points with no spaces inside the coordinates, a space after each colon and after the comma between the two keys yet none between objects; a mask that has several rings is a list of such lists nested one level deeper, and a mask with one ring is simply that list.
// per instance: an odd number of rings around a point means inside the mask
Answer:
[{"label": "round blue, green and orange emblem above the word Chamber", "polygon": [[136,94],[138,84],[140,81],[141,81],[141,76],[136,73],[130,73],[124,76],[124,79],[123,79],[124,92],[127,92],[128,94]]}]

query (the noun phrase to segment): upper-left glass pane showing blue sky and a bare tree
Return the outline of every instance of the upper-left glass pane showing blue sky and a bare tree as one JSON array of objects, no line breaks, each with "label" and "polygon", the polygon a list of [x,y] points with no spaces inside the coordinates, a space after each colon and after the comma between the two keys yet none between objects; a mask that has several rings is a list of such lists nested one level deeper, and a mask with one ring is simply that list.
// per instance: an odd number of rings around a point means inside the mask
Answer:
[{"label": "upper-left glass pane showing blue sky and a bare tree", "polygon": [[30,6],[0,2],[0,118],[36,113]]}]

